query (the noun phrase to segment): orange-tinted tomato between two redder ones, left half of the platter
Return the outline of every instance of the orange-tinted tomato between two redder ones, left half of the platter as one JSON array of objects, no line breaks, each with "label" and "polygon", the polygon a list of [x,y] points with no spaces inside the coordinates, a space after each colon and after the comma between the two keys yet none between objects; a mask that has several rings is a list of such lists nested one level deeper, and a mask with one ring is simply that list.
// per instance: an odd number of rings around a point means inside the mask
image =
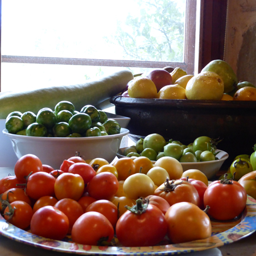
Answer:
[{"label": "orange-tinted tomato between two redder ones, left half of the platter", "polygon": [[84,192],[84,180],[79,174],[64,172],[57,177],[54,191],[58,200],[70,198],[77,201]]}]

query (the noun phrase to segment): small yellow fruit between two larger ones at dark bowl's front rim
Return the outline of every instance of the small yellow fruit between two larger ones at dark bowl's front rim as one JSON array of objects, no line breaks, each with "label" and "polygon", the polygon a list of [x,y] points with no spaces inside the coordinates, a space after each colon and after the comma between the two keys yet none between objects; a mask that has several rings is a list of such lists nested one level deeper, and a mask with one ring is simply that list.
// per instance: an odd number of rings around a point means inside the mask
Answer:
[{"label": "small yellow fruit between two larger ones at dark bowl's front rim", "polygon": [[185,89],[179,85],[166,85],[158,92],[158,98],[184,100],[186,98]]}]

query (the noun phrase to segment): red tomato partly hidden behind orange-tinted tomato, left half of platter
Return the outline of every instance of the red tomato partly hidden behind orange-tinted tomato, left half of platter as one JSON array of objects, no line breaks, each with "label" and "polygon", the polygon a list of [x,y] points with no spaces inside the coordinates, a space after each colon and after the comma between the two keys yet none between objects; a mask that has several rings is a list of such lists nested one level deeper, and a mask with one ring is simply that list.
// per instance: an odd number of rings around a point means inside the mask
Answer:
[{"label": "red tomato partly hidden behind orange-tinted tomato, left half of platter", "polygon": [[75,163],[69,167],[68,172],[71,174],[79,174],[84,180],[84,184],[90,182],[90,180],[96,175],[96,171],[88,163]]}]

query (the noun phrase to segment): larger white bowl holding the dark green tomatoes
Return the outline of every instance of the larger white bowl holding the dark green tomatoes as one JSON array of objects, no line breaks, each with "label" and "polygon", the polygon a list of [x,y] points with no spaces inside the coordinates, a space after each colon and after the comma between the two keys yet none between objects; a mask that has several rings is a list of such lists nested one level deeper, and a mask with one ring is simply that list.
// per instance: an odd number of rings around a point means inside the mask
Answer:
[{"label": "larger white bowl holding the dark green tomatoes", "polygon": [[10,134],[6,129],[3,130],[3,134],[11,139],[18,158],[26,154],[34,154],[43,164],[59,169],[63,160],[75,156],[76,151],[85,159],[104,158],[109,163],[112,162],[123,136],[129,134],[129,130],[121,128],[120,134],[80,138],[23,136]]}]

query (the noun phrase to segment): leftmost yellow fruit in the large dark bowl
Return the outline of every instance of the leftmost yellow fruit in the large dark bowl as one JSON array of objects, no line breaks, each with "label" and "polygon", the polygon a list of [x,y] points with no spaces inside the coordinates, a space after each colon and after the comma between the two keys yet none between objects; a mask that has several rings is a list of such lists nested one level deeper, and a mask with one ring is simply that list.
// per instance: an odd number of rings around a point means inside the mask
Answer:
[{"label": "leftmost yellow fruit in the large dark bowl", "polygon": [[156,98],[158,91],[152,80],[139,77],[129,84],[128,93],[130,98]]}]

